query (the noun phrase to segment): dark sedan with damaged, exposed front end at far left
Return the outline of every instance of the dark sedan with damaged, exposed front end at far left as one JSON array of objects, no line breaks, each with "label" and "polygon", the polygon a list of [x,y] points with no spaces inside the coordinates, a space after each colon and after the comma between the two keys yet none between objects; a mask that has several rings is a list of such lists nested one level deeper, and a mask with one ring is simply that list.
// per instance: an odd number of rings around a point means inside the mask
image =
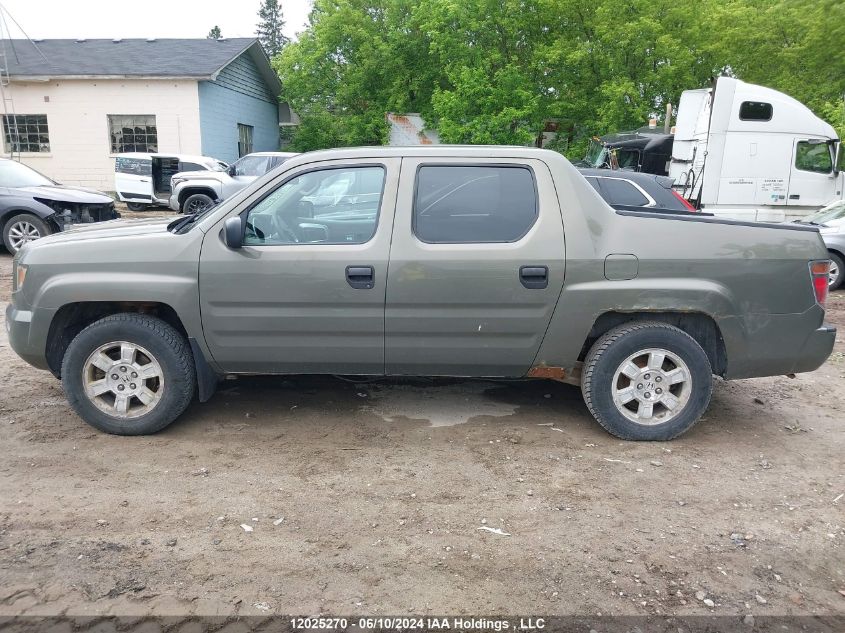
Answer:
[{"label": "dark sedan with damaged, exposed front end at far left", "polygon": [[0,227],[9,252],[73,224],[117,217],[110,196],[60,185],[31,167],[0,158]]}]

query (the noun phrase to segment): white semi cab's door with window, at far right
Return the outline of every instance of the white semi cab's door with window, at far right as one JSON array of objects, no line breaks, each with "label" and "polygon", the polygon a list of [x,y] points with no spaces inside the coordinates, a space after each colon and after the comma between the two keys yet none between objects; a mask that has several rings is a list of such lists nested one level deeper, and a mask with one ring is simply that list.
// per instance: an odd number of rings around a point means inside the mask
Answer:
[{"label": "white semi cab's door with window, at far right", "polygon": [[795,141],[787,204],[821,207],[840,197],[838,184],[833,174],[832,146],[821,139]]}]

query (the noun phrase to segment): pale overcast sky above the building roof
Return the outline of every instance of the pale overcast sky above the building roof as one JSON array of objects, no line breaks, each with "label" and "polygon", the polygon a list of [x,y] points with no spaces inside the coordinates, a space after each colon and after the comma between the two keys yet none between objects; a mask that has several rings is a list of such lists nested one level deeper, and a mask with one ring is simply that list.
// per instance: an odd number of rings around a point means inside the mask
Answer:
[{"label": "pale overcast sky above the building roof", "polygon": [[[305,28],[311,0],[280,0],[285,35]],[[13,38],[223,37],[255,35],[261,0],[0,0]]]}]

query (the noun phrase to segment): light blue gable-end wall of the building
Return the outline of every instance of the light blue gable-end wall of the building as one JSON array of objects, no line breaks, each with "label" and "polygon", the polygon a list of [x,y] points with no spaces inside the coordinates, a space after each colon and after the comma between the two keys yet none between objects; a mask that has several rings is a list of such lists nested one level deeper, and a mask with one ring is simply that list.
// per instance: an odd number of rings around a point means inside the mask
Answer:
[{"label": "light blue gable-end wall of the building", "polygon": [[231,163],[238,158],[238,123],[253,126],[253,151],[279,149],[279,104],[245,53],[215,81],[199,82],[202,153]]}]

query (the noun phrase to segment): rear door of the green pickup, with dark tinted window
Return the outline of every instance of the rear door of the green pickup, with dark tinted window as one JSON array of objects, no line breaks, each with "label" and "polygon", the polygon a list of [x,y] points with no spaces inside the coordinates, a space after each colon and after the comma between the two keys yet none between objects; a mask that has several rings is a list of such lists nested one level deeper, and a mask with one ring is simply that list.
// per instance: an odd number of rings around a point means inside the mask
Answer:
[{"label": "rear door of the green pickup, with dark tinted window", "polygon": [[404,158],[385,304],[387,374],[522,376],[563,286],[539,160]]}]

